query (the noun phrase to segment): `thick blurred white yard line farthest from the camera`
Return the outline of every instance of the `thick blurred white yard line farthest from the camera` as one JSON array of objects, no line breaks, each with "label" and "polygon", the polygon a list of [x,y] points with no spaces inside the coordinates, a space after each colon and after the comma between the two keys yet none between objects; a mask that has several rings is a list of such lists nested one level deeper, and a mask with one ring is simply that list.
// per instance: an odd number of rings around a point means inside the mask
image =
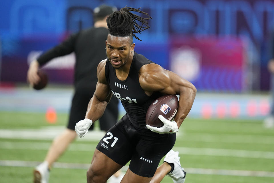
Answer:
[{"label": "thick blurred white yard line farthest from the camera", "polygon": [[[35,139],[53,140],[65,129],[64,126],[45,127],[41,129],[0,129],[0,138],[8,139]],[[81,141],[98,141],[105,132],[93,130],[86,134]],[[243,135],[243,134],[210,134],[210,133],[185,133],[177,132],[177,137],[188,137],[188,141],[194,142],[223,142],[223,143],[246,143],[246,144],[273,144],[274,136]]]}]

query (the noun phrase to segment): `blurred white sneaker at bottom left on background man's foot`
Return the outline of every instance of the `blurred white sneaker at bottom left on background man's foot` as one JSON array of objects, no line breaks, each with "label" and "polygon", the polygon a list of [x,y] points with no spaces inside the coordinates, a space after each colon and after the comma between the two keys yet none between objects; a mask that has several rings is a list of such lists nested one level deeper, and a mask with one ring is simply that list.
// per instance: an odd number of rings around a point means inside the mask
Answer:
[{"label": "blurred white sneaker at bottom left on background man's foot", "polygon": [[35,167],[33,171],[34,183],[48,183],[49,182],[49,164],[44,161]]}]

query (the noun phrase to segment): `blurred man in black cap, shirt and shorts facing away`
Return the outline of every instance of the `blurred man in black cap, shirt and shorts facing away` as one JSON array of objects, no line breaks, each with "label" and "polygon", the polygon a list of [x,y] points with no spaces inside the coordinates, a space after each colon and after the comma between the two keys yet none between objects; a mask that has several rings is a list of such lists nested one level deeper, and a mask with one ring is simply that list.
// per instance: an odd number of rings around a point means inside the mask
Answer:
[{"label": "blurred man in black cap, shirt and shorts facing away", "polygon": [[[72,52],[75,52],[76,55],[74,68],[75,91],[67,129],[55,138],[45,157],[45,161],[36,167],[34,171],[35,182],[48,182],[48,169],[51,168],[53,162],[63,154],[70,142],[77,136],[74,130],[75,124],[83,119],[86,114],[88,102],[96,88],[97,65],[101,60],[106,58],[105,41],[108,35],[106,18],[116,10],[116,7],[107,5],[96,7],[94,9],[94,26],[92,28],[70,36],[60,45],[43,53],[29,66],[27,80],[33,85],[39,82],[39,76],[37,75],[39,67],[55,57],[67,55]],[[117,117],[118,99],[113,97],[106,108],[104,115],[100,118],[101,130],[109,130],[116,123]]]}]

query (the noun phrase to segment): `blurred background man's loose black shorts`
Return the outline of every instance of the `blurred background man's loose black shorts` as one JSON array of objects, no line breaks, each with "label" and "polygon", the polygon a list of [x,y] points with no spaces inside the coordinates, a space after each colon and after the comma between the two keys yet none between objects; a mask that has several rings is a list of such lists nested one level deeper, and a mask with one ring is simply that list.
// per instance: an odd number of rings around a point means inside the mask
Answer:
[{"label": "blurred background man's loose black shorts", "polygon": [[[74,130],[75,124],[85,118],[88,102],[93,96],[92,94],[92,92],[90,92],[90,94],[87,94],[81,91],[76,91],[74,93],[70,108],[69,121],[67,125],[68,129]],[[108,131],[114,124],[116,124],[117,118],[118,99],[116,97],[112,97],[110,102],[106,106],[106,110],[103,116],[99,119],[100,129]],[[92,124],[89,129],[93,129],[93,125],[94,124]]]}]

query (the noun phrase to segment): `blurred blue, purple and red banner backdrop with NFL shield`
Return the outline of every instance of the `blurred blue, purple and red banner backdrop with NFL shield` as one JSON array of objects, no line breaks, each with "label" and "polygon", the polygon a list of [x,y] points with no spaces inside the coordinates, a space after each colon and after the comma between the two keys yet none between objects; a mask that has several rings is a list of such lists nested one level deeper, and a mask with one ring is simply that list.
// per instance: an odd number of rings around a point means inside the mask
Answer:
[{"label": "blurred blue, purple and red banner backdrop with NFL shield", "polygon": [[[199,91],[269,89],[266,65],[274,1],[267,0],[3,0],[1,83],[25,83],[29,63],[68,35],[92,26],[93,9],[102,3],[149,13],[151,28],[139,35],[142,41],[134,39],[135,51]],[[51,83],[71,84],[74,63],[72,53],[43,69]]]}]

